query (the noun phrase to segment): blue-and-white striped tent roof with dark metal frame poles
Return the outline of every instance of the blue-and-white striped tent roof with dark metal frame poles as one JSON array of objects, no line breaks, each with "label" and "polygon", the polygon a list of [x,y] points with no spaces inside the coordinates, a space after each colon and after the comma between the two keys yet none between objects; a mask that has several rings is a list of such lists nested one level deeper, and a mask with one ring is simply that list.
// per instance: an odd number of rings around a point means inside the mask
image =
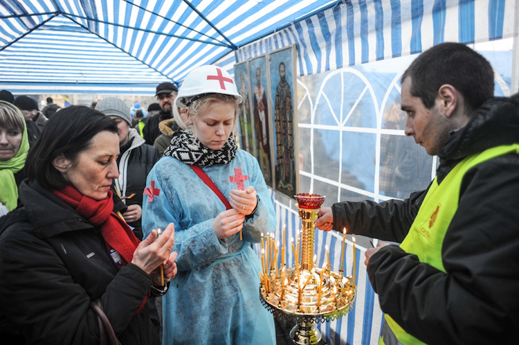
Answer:
[{"label": "blue-and-white striped tent roof with dark metal frame poles", "polygon": [[153,94],[337,2],[0,1],[0,83],[18,93]]}]

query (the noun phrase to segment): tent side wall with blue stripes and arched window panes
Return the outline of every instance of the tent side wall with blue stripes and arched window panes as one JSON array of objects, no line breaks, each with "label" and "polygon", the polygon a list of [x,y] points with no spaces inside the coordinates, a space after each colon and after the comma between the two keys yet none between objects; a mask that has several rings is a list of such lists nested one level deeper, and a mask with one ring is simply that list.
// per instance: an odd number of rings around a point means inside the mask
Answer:
[{"label": "tent side wall with blue stripes and arched window panes", "polygon": [[[416,54],[441,42],[462,42],[480,51],[495,68],[495,95],[518,90],[517,0],[344,1],[279,32],[240,48],[237,62],[296,44],[298,60],[298,154],[300,191],[326,195],[324,206],[341,200],[403,198],[426,188],[435,176],[437,157],[388,125],[385,110],[399,102],[401,73]],[[487,44],[486,42],[490,42]],[[489,48],[490,46],[490,48]],[[490,50],[489,50],[490,49]],[[228,62],[227,62],[228,63]],[[410,150],[405,183],[388,188],[405,160],[389,150]],[[272,191],[277,214],[276,238],[295,238],[301,228],[294,201]],[[330,248],[338,271],[336,231],[316,231],[317,265]],[[346,274],[352,274],[352,242],[347,236]],[[356,306],[346,317],[320,324],[327,344],[376,344],[383,313],[357,246]],[[260,252],[258,251],[258,254]],[[289,267],[293,254],[286,253]]]}]

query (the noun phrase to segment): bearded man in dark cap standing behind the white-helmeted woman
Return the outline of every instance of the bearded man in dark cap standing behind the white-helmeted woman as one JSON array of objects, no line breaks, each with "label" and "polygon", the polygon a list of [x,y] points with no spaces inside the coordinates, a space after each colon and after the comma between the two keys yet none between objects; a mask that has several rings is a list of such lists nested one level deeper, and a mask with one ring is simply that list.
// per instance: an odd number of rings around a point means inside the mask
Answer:
[{"label": "bearded man in dark cap standing behind the white-helmeted woman", "polygon": [[143,128],[144,140],[147,144],[153,145],[157,136],[161,135],[158,123],[167,118],[173,118],[173,105],[178,94],[179,89],[171,82],[161,82],[157,86],[155,96],[158,99],[158,104],[161,106],[161,112],[154,116],[148,116],[149,119]]}]

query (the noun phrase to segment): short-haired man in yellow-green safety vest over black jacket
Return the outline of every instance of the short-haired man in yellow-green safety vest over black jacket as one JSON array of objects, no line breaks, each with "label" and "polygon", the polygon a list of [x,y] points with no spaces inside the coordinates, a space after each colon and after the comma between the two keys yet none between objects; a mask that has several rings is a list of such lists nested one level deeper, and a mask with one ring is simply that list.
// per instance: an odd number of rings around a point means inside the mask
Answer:
[{"label": "short-haired man in yellow-green safety vest over black jacket", "polygon": [[437,177],[406,200],[339,202],[322,230],[401,242],[366,251],[384,344],[516,344],[519,325],[519,95],[493,98],[493,69],[457,43],[402,76],[406,135]]}]

